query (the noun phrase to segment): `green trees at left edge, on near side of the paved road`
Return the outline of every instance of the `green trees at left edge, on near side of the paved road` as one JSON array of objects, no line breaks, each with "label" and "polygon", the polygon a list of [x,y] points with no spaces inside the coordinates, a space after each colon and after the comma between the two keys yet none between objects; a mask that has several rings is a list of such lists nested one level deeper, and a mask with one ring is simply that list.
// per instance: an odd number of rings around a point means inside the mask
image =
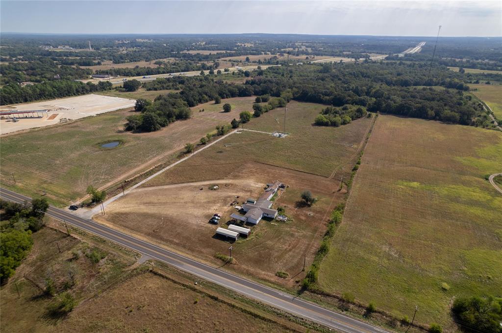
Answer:
[{"label": "green trees at left edge, on near side of the paved road", "polygon": [[16,267],[29,253],[32,233],[44,225],[44,215],[49,204],[45,198],[35,198],[32,203],[13,203],[0,199],[2,214],[0,232],[0,283],[5,283]]}]

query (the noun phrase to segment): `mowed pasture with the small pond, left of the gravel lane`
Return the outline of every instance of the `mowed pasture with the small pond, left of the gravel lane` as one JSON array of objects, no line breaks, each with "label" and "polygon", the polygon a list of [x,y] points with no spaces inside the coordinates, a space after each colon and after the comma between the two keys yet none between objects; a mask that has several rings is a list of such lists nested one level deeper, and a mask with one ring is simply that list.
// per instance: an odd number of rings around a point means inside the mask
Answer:
[{"label": "mowed pasture with the small pond, left of the gravel lane", "polygon": [[[222,102],[240,108],[247,103],[251,109],[254,98]],[[194,112],[191,119],[153,133],[124,132],[123,124],[134,112],[122,110],[4,137],[0,181],[29,196],[46,193],[52,203],[61,206],[82,198],[88,185],[112,185],[172,160],[187,142],[197,142],[216,125],[238,118],[239,107],[230,113]],[[121,144],[113,149],[100,147],[109,141]]]}]

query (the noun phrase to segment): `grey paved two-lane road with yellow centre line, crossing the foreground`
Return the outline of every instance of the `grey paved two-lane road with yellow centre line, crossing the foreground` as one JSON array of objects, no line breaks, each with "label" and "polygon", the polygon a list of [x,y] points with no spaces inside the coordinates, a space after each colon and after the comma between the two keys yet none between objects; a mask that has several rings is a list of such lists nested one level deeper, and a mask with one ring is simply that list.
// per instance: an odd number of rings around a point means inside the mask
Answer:
[{"label": "grey paved two-lane road with yellow centre line, crossing the foreground", "polygon": [[[0,196],[4,199],[22,203],[30,201],[30,198],[21,194],[0,189]],[[367,324],[365,322],[333,312],[326,308],[315,305],[294,297],[285,292],[266,287],[228,272],[210,267],[185,256],[163,249],[141,239],[129,236],[117,230],[108,228],[82,217],[78,217],[68,211],[50,206],[47,214],[54,218],[65,220],[67,223],[94,233],[103,238],[114,241],[122,246],[129,247],[142,255],[160,260],[169,265],[199,276],[205,280],[222,285],[250,298],[279,308],[293,315],[303,317],[329,328],[343,333],[385,333],[384,329]]]}]

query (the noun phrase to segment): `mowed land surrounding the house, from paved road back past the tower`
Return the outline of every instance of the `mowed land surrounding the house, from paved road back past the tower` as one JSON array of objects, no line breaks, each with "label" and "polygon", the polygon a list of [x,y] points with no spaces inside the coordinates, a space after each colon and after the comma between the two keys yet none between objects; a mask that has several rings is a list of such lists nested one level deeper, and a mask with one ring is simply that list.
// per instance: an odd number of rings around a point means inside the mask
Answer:
[{"label": "mowed land surrounding the house, from paved road back past the tower", "polygon": [[[226,254],[229,243],[214,237],[216,226],[208,223],[209,218],[220,213],[225,226],[230,214],[236,212],[230,206],[236,196],[241,204],[248,197],[262,194],[265,184],[280,180],[289,187],[273,207],[285,207],[292,220],[286,224],[262,220],[253,226],[248,239],[233,244],[236,264],[229,268],[296,287],[305,274],[304,256],[309,264],[326,230],[329,213],[343,200],[345,192],[338,191],[338,179],[342,174],[348,176],[371,124],[365,118],[338,128],[312,126],[322,107],[291,102],[288,137],[251,131],[232,134],[110,203],[106,215],[95,218],[218,264],[214,255]],[[244,127],[273,130],[282,110],[254,118]],[[330,178],[335,170],[339,173]],[[212,184],[220,189],[209,190]],[[304,190],[319,199],[312,207],[300,203]],[[280,270],[289,278],[275,276]]]}]

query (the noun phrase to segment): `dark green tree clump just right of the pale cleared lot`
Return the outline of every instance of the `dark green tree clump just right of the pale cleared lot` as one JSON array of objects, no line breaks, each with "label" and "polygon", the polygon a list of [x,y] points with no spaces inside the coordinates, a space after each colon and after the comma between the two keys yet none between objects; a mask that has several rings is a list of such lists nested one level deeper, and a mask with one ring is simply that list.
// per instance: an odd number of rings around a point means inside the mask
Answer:
[{"label": "dark green tree clump just right of the pale cleared lot", "polygon": [[138,100],[135,109],[141,114],[127,118],[126,131],[154,132],[191,116],[191,110],[180,94],[160,95],[153,103]]}]

